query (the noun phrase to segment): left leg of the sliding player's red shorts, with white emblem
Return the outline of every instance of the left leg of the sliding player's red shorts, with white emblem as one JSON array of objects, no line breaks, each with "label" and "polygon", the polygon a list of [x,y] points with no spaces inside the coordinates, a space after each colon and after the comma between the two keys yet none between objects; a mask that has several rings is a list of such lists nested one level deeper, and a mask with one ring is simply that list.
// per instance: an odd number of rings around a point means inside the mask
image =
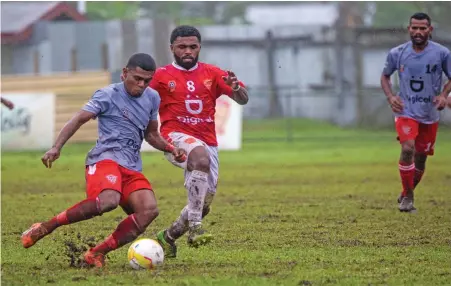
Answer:
[{"label": "left leg of the sliding player's red shorts, with white emblem", "polygon": [[97,198],[104,190],[122,193],[122,175],[114,161],[103,160],[86,166],[85,178],[88,198]]}]

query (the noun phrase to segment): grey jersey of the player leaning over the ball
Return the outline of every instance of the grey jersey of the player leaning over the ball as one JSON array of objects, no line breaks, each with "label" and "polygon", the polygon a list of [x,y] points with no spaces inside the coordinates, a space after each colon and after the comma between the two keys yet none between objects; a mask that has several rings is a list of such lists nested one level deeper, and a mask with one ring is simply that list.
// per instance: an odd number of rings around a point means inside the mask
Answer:
[{"label": "grey jersey of the player leaning over the ball", "polygon": [[130,96],[123,83],[116,83],[94,93],[83,110],[98,118],[99,139],[87,157],[86,165],[113,160],[135,171],[142,170],[141,144],[151,120],[157,120],[160,96],[146,88],[140,97]]}]

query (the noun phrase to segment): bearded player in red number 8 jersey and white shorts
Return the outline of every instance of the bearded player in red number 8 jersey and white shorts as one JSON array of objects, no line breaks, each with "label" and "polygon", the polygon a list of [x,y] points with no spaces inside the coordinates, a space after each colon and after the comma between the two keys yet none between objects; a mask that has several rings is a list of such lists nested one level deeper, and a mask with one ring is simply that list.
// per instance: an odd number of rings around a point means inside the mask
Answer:
[{"label": "bearded player in red number 8 jersey and white shorts", "polygon": [[176,162],[173,155],[165,153],[172,164],[185,170],[184,185],[188,192],[188,204],[180,217],[157,235],[166,257],[175,257],[175,241],[187,231],[188,244],[193,247],[206,244],[212,238],[201,223],[210,211],[218,183],[216,99],[227,95],[244,105],[249,98],[233,72],[198,62],[201,35],[196,28],[175,28],[170,44],[174,62],[157,69],[150,87],[158,91],[161,98],[161,134],[188,153],[184,163]]}]

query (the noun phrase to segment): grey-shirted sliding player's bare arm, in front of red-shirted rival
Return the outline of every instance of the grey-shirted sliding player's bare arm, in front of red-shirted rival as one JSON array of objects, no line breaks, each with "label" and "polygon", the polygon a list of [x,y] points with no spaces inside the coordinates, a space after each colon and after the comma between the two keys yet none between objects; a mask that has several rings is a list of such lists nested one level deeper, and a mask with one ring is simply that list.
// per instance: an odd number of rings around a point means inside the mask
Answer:
[{"label": "grey-shirted sliding player's bare arm, in front of red-shirted rival", "polygon": [[163,152],[172,153],[177,162],[184,162],[186,160],[186,151],[184,149],[174,147],[161,136],[158,131],[158,120],[151,120],[149,122],[144,138],[152,147]]}]

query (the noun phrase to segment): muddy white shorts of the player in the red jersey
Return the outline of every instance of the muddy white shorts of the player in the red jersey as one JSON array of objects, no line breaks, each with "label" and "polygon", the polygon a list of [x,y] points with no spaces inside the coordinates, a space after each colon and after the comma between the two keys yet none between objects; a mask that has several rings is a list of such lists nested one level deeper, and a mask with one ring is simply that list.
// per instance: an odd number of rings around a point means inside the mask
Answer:
[{"label": "muddy white shorts of the player in the red jersey", "polygon": [[[171,139],[171,143],[178,148],[185,149],[187,156],[191,153],[191,151],[198,147],[204,146],[210,155],[210,174],[208,175],[208,185],[209,192],[216,192],[216,186],[218,185],[218,177],[219,177],[219,158],[218,158],[218,147],[208,146],[202,140],[199,140],[191,135],[187,135],[180,132],[171,132],[169,133],[169,138]],[[186,160],[183,163],[179,163],[174,160],[174,156],[171,153],[165,152],[164,156],[166,159],[171,162],[173,165],[182,168],[185,170],[185,185],[191,172],[187,170],[187,162]]]}]

